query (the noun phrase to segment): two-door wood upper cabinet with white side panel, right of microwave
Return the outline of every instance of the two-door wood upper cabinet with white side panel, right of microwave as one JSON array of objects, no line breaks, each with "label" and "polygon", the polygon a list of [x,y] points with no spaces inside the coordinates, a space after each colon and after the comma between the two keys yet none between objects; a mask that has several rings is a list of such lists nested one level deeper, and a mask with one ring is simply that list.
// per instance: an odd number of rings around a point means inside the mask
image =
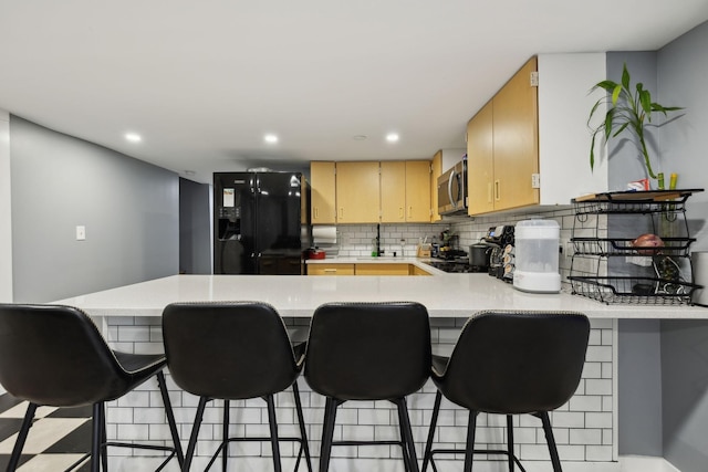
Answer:
[{"label": "two-door wood upper cabinet with white side panel, right of microwave", "polygon": [[467,136],[470,214],[570,204],[607,191],[606,159],[594,171],[587,164],[587,114],[605,94],[589,91],[605,76],[604,53],[540,54],[475,115]]}]

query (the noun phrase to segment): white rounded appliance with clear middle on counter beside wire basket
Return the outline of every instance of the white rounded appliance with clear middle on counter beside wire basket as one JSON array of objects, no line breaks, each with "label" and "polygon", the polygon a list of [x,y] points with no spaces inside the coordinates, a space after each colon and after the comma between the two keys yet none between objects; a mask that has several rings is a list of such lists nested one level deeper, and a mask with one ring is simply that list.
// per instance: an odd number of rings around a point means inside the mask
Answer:
[{"label": "white rounded appliance with clear middle on counter beside wire basket", "polygon": [[558,271],[561,229],[553,220],[523,220],[514,228],[514,289],[533,293],[561,291]]}]

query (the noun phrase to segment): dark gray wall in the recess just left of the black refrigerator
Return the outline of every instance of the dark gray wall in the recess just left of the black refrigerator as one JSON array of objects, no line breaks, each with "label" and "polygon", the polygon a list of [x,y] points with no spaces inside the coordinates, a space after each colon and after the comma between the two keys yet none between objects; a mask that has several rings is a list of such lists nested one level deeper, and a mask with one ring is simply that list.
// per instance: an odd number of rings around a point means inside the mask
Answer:
[{"label": "dark gray wall in the recess just left of the black refrigerator", "polygon": [[179,179],[179,272],[211,273],[211,186]]}]

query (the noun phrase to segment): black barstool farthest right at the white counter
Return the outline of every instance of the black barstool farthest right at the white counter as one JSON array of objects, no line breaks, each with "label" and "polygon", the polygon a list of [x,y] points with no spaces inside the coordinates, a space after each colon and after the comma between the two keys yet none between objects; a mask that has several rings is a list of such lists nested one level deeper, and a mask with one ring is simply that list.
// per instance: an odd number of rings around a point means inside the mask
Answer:
[{"label": "black barstool farthest right at the white counter", "polygon": [[[561,462],[549,419],[577,389],[590,322],[581,313],[481,312],[472,316],[457,340],[452,355],[435,356],[433,380],[438,387],[423,460],[437,471],[436,453],[465,453],[465,472],[472,470],[473,453],[501,453],[523,466],[513,454],[512,415],[530,413],[541,419],[553,470]],[[469,410],[467,447],[433,450],[433,439],[442,396]],[[480,412],[507,416],[507,451],[475,450],[475,427]]]}]

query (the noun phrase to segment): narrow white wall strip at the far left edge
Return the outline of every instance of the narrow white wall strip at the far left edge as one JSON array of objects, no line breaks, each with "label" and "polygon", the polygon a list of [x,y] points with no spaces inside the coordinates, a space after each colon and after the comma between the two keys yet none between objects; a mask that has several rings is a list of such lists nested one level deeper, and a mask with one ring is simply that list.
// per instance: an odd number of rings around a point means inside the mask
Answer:
[{"label": "narrow white wall strip at the far left edge", "polygon": [[0,303],[12,302],[12,204],[10,115],[0,109]]}]

